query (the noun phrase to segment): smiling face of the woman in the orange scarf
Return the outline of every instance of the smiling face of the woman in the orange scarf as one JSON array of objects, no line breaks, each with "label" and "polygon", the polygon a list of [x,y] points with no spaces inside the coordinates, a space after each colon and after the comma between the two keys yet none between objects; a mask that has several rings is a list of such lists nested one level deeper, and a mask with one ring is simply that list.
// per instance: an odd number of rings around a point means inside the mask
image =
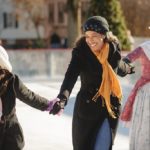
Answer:
[{"label": "smiling face of the woman in the orange scarf", "polygon": [[85,40],[92,51],[101,50],[105,36],[95,31],[86,31]]}]

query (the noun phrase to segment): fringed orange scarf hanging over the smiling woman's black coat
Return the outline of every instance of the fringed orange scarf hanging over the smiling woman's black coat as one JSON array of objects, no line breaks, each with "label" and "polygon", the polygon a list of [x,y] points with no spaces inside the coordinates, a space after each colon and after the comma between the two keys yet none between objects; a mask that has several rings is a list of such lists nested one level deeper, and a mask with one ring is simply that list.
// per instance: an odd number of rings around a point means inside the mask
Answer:
[{"label": "fringed orange scarf hanging over the smiling woman's black coat", "polygon": [[109,54],[109,44],[105,43],[102,49],[99,52],[94,52],[99,62],[102,64],[103,74],[102,74],[102,83],[101,86],[93,97],[92,100],[96,101],[99,96],[105,101],[108,113],[116,118],[114,112],[112,111],[112,105],[110,102],[110,95],[115,95],[119,100],[122,98],[122,90],[117,79],[117,75],[113,71],[112,67],[108,63],[108,54]]}]

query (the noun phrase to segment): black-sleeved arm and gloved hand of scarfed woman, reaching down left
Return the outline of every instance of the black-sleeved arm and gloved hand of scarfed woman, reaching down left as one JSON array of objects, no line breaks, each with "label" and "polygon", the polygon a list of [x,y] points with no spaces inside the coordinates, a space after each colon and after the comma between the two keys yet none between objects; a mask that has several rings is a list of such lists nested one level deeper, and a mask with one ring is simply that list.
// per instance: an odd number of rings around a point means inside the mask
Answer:
[{"label": "black-sleeved arm and gloved hand of scarfed woman, reaching down left", "polygon": [[68,98],[80,73],[80,65],[81,64],[78,57],[77,49],[74,49],[72,52],[72,59],[70,61],[64,81],[60,89],[60,93],[57,96],[60,101],[54,104],[54,107],[52,111],[50,111],[50,114],[58,114],[67,105]]}]

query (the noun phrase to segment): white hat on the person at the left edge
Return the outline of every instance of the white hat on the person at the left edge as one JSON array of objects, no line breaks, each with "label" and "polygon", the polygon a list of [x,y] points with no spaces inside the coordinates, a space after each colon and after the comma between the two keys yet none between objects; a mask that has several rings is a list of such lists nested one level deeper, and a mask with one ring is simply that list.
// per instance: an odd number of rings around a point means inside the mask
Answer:
[{"label": "white hat on the person at the left edge", "polygon": [[0,46],[0,67],[7,69],[10,72],[12,71],[12,66],[9,62],[8,54],[2,46]]}]

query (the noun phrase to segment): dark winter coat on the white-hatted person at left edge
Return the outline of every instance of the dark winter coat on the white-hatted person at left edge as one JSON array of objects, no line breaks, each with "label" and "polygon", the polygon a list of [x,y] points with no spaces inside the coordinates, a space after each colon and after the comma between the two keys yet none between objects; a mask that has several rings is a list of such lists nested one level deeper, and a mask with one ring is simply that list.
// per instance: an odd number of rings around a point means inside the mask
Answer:
[{"label": "dark winter coat on the white-hatted person at left edge", "polygon": [[[3,83],[0,81],[0,84]],[[22,128],[16,116],[16,98],[42,111],[46,110],[49,103],[29,90],[17,75],[10,74],[7,88],[1,95],[3,116],[0,122],[0,150],[21,150],[24,146]]]}]

